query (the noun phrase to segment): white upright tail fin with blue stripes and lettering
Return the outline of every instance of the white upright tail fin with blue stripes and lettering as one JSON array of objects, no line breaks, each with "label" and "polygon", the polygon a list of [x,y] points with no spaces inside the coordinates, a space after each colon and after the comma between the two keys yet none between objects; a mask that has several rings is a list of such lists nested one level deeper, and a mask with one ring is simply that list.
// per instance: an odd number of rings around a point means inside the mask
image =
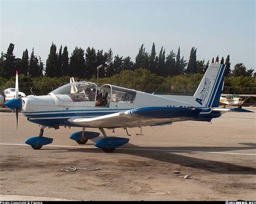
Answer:
[{"label": "white upright tail fin with blue stripes and lettering", "polygon": [[218,107],[224,84],[225,65],[211,63],[194,93],[196,104],[203,107]]}]

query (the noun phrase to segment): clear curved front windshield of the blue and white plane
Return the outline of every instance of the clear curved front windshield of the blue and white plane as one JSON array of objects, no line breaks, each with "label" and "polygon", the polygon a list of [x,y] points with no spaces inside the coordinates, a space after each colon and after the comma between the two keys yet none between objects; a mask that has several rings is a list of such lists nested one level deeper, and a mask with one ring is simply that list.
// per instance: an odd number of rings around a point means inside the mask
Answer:
[{"label": "clear curved front windshield of the blue and white plane", "polygon": [[53,94],[66,94],[72,101],[95,101],[92,95],[92,90],[96,89],[96,84],[79,81],[60,86],[58,89],[53,90]]}]

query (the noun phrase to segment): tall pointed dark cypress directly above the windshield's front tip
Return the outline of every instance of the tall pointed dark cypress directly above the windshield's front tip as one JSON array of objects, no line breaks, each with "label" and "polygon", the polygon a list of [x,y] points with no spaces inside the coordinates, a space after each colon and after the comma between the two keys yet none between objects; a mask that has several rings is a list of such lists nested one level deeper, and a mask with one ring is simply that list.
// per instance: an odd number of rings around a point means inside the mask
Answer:
[{"label": "tall pointed dark cypress directly above the windshield's front tip", "polygon": [[56,53],[57,47],[52,43],[48,59],[46,59],[45,74],[48,77],[56,77],[58,55]]}]

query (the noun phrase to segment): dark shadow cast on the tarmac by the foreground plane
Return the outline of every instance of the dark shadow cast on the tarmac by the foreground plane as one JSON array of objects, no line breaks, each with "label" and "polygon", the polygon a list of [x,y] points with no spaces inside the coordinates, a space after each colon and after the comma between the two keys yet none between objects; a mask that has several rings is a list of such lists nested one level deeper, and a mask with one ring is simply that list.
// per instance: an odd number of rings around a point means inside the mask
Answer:
[{"label": "dark shadow cast on the tarmac by the foreground plane", "polygon": [[[95,140],[97,141],[98,139],[94,139],[93,141]],[[221,161],[199,159],[199,158],[189,157],[187,155],[178,154],[178,153],[189,153],[187,151],[225,152],[225,151],[235,151],[235,150],[245,150],[245,149],[256,149],[256,145],[253,143],[241,143],[241,144],[248,145],[248,146],[247,147],[140,147],[140,146],[136,146],[129,143],[123,146],[123,148],[125,149],[122,149],[122,147],[117,148],[113,153],[109,153],[109,154],[119,153],[119,154],[135,155],[137,157],[169,162],[170,164],[177,164],[185,167],[197,168],[197,169],[214,172],[214,173],[221,173],[221,174],[256,175],[256,168],[240,166],[240,165],[230,164],[230,163],[221,162]],[[63,149],[63,147],[61,147],[61,149]],[[141,149],[141,150],[137,150],[137,149]],[[149,149],[152,149],[152,151]],[[163,149],[163,151],[157,151],[157,154],[153,154],[154,152],[153,149]],[[173,152],[170,151],[170,149],[173,150]],[[65,151],[84,152],[84,153],[86,152],[87,153],[103,153],[101,149],[94,148],[94,147],[93,148],[90,148],[90,147],[65,148]],[[149,152],[152,152],[152,153],[149,153]],[[222,156],[221,154],[218,154],[217,157],[222,157]]]}]

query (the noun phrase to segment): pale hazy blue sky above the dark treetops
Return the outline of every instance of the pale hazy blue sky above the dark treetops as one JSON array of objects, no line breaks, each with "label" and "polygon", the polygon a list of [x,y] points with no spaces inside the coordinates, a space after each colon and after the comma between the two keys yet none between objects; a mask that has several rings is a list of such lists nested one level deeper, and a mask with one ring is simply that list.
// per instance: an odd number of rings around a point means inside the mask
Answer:
[{"label": "pale hazy blue sky above the dark treetops", "polygon": [[22,58],[34,47],[44,64],[52,42],[57,50],[88,46],[113,55],[130,56],[139,47],[157,55],[164,47],[189,59],[197,48],[197,60],[207,62],[230,55],[231,69],[244,63],[256,71],[255,1],[3,1],[0,0],[0,51],[15,44],[14,55]]}]

